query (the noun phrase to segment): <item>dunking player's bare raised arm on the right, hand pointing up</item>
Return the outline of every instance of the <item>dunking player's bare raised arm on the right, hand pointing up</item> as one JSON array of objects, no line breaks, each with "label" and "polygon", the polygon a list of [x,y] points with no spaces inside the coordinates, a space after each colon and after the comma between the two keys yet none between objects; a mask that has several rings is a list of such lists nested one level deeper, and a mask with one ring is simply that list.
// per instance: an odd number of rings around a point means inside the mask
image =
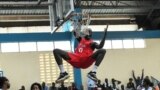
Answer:
[{"label": "dunking player's bare raised arm on the right, hand pointing up", "polygon": [[98,43],[96,43],[96,42],[93,42],[93,43],[91,44],[91,47],[92,47],[93,49],[95,49],[95,48],[96,48],[96,49],[101,49],[101,48],[103,48],[104,43],[105,43],[105,39],[106,39],[106,36],[107,36],[107,29],[108,29],[108,25],[107,25],[107,27],[106,27],[105,30],[104,30],[104,36],[103,36],[100,44],[98,44]]}]

